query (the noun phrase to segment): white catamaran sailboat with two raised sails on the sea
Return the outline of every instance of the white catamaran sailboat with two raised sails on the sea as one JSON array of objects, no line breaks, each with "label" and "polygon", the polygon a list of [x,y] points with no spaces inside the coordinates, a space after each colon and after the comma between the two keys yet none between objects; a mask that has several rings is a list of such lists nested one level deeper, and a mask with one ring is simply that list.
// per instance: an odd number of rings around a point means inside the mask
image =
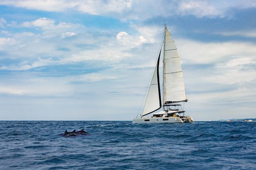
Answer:
[{"label": "white catamaran sailboat with two raised sails on the sea", "polygon": [[[190,123],[193,118],[185,116],[182,104],[187,102],[182,67],[176,45],[164,25],[163,50],[163,92],[161,97],[159,64],[161,50],[154,69],[148,96],[140,117],[134,118],[133,123]],[[163,101],[163,104],[162,104]],[[161,109],[160,112],[156,112]],[[146,115],[152,114],[151,117]]]}]

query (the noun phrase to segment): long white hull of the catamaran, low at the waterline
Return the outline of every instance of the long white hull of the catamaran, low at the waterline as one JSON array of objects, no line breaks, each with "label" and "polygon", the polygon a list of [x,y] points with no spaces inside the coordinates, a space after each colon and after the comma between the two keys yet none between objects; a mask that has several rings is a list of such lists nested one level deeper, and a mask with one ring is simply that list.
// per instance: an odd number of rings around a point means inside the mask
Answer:
[{"label": "long white hull of the catamaran, low at the waterline", "polygon": [[183,123],[179,117],[134,118],[132,123]]}]

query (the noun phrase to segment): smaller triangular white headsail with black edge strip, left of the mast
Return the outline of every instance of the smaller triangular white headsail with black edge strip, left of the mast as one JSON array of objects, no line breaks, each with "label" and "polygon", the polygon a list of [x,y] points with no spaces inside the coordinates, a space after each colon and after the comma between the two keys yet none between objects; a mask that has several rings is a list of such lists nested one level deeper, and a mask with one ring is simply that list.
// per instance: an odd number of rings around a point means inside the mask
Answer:
[{"label": "smaller triangular white headsail with black edge strip, left of the mast", "polygon": [[151,114],[155,110],[162,107],[161,94],[160,94],[160,84],[159,84],[159,61],[160,61],[161,51],[158,56],[157,65],[155,66],[154,74],[149,87],[148,97],[144,105],[143,112],[141,116]]}]

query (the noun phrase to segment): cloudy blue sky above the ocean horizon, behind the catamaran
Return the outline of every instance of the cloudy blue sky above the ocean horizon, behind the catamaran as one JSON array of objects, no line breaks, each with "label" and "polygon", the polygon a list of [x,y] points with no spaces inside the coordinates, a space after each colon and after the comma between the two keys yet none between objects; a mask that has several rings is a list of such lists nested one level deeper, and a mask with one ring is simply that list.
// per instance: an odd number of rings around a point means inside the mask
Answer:
[{"label": "cloudy blue sky above the ocean horizon, behind the catamaran", "polygon": [[196,121],[256,116],[256,1],[0,0],[0,120],[140,115],[163,38]]}]

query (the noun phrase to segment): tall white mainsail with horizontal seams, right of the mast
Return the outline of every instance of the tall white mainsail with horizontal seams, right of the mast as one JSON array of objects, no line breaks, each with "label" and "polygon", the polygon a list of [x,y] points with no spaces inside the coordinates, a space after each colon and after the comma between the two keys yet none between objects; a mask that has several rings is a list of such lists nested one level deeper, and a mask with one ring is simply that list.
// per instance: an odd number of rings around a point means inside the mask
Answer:
[{"label": "tall white mainsail with horizontal seams, right of the mast", "polygon": [[187,101],[179,54],[171,34],[166,28],[163,64],[163,103]]}]

